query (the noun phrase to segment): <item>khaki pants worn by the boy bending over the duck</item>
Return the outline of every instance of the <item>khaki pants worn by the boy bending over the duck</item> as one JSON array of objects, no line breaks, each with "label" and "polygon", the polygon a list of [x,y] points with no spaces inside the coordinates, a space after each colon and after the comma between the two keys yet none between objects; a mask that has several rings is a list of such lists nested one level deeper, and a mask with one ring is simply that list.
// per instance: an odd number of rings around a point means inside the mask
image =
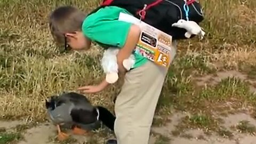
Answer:
[{"label": "khaki pants worn by the boy bending over the duck", "polygon": [[[174,54],[176,46],[173,45]],[[124,77],[116,98],[114,130],[118,144],[147,144],[150,127],[167,69],[148,61],[132,69]]]}]

